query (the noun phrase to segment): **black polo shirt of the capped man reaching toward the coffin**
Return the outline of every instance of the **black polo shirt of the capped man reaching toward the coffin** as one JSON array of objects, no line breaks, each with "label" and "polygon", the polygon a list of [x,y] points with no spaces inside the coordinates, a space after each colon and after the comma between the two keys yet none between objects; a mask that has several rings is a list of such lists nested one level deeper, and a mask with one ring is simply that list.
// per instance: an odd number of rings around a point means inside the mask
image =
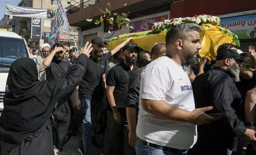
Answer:
[{"label": "black polo shirt of the capped man reaching toward the coffin", "polygon": [[102,74],[108,70],[108,59],[112,53],[105,53],[99,60],[93,59],[92,56],[87,60],[86,72],[79,89],[85,99],[101,100],[103,97]]}]

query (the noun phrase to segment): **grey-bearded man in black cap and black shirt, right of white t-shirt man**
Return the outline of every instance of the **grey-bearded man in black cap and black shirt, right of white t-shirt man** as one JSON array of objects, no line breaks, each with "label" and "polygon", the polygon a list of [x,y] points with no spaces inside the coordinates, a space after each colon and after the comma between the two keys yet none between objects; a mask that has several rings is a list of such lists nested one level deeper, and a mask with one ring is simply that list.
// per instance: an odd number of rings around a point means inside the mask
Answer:
[{"label": "grey-bearded man in black cap and black shirt, right of white t-shirt man", "polygon": [[193,81],[196,108],[213,106],[207,114],[226,113],[227,116],[198,126],[198,140],[189,154],[227,155],[227,149],[237,151],[239,136],[247,142],[256,140],[256,132],[246,129],[240,121],[240,110],[234,110],[242,102],[234,81],[240,81],[239,67],[248,59],[248,55],[240,55],[236,49],[219,48],[215,67]]}]

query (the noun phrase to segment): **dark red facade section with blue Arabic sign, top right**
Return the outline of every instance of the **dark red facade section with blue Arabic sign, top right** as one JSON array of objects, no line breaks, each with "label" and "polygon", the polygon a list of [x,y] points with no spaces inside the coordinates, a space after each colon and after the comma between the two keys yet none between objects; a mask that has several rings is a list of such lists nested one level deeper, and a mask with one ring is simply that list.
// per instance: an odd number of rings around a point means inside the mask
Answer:
[{"label": "dark red facade section with blue Arabic sign, top right", "polygon": [[[256,47],[255,0],[181,0],[171,4],[171,18],[193,17],[203,13],[219,17],[220,26],[237,34],[240,50],[248,52],[249,45]],[[249,64],[250,60],[244,62],[244,66]]]}]

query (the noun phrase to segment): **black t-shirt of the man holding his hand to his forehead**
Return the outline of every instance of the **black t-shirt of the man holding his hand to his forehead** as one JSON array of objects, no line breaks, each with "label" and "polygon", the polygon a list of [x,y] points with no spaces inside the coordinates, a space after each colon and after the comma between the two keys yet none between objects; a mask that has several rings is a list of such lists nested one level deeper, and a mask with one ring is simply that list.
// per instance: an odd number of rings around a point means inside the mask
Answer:
[{"label": "black t-shirt of the man holding his hand to his forehead", "polygon": [[68,60],[61,60],[60,62],[52,59],[50,67],[45,69],[46,79],[48,81],[56,81],[58,77],[66,76],[70,62]]}]

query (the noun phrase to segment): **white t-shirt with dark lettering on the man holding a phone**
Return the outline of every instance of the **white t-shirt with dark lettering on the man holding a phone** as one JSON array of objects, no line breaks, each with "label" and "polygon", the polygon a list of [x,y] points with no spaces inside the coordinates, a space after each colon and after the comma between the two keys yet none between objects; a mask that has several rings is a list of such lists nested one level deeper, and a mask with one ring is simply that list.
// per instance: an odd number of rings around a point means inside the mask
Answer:
[{"label": "white t-shirt with dark lettering on the man holding a phone", "polygon": [[[195,109],[192,85],[182,66],[169,57],[160,57],[141,74],[137,136],[149,143],[175,149],[189,149],[197,140],[196,125],[188,122],[161,119],[146,112],[141,98],[165,100],[176,108]],[[159,105],[161,106],[161,105]]]}]

